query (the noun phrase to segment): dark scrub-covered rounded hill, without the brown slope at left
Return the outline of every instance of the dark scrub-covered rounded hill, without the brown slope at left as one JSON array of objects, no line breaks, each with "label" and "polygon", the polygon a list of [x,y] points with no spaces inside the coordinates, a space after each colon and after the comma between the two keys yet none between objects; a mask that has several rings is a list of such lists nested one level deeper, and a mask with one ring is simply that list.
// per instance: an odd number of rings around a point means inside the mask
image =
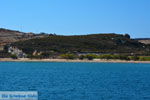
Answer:
[{"label": "dark scrub-covered rounded hill, without the brown slope at left", "polygon": [[78,36],[49,36],[12,44],[27,54],[37,52],[53,53],[137,53],[149,52],[147,45],[130,39],[128,35],[120,34],[91,34]]}]

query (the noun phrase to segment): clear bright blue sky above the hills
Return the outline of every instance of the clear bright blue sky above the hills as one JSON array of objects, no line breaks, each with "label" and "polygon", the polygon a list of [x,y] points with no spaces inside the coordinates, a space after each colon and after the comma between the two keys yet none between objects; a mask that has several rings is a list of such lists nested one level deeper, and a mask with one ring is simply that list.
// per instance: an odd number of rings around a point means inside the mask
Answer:
[{"label": "clear bright blue sky above the hills", "polygon": [[150,0],[0,0],[0,5],[1,28],[150,38]]}]

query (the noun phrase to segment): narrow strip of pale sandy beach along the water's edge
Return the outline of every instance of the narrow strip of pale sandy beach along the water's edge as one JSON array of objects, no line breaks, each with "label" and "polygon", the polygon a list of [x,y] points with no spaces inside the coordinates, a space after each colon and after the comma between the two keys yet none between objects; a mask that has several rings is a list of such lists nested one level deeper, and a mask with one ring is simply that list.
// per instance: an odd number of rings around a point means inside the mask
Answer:
[{"label": "narrow strip of pale sandy beach along the water's edge", "polygon": [[0,62],[100,62],[100,63],[150,63],[150,61],[127,61],[127,60],[106,60],[106,59],[93,59],[93,60],[79,60],[79,59],[29,59],[29,58],[0,58]]}]

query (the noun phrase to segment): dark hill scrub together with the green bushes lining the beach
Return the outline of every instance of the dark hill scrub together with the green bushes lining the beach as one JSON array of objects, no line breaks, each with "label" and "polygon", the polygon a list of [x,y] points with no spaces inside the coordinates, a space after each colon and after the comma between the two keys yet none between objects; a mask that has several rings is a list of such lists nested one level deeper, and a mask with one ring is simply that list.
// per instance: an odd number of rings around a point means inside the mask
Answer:
[{"label": "dark hill scrub together with the green bushes lining the beach", "polygon": [[[35,38],[12,43],[31,59],[120,59],[149,61],[150,45],[139,43],[125,34],[92,34]],[[6,46],[7,47],[7,46]],[[5,55],[5,56],[4,56]],[[6,56],[7,55],[7,56]],[[15,58],[4,51],[0,57]]]}]

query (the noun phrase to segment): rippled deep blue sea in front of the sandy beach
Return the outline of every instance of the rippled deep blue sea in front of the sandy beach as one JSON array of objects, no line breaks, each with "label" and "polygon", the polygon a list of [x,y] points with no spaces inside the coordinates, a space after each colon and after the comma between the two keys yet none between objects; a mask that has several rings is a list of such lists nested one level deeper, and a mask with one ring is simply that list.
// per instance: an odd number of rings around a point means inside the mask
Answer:
[{"label": "rippled deep blue sea in front of the sandy beach", "polygon": [[0,91],[39,100],[150,100],[150,64],[0,62]]}]

